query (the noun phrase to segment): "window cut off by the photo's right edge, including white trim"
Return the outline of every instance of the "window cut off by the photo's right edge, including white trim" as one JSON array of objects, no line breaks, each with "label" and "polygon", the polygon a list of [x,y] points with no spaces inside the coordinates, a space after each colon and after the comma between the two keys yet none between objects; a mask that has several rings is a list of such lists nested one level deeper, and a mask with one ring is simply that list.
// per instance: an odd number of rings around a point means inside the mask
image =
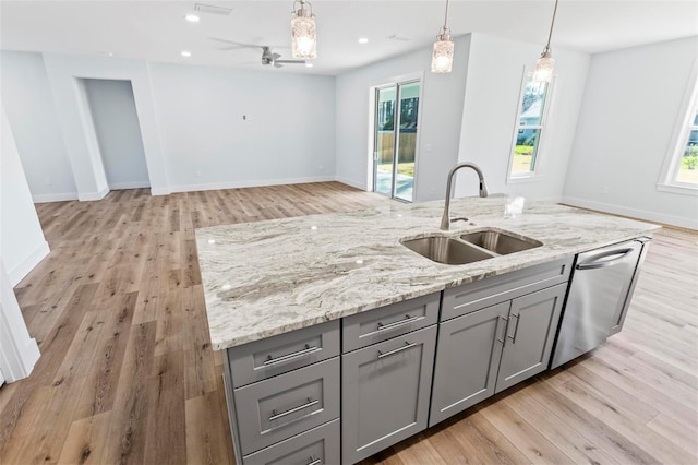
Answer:
[{"label": "window cut off by the photo's right edge, including white trim", "polygon": [[676,193],[698,193],[698,73],[694,70],[691,86],[682,107],[683,118],[674,129],[658,189]]}]

